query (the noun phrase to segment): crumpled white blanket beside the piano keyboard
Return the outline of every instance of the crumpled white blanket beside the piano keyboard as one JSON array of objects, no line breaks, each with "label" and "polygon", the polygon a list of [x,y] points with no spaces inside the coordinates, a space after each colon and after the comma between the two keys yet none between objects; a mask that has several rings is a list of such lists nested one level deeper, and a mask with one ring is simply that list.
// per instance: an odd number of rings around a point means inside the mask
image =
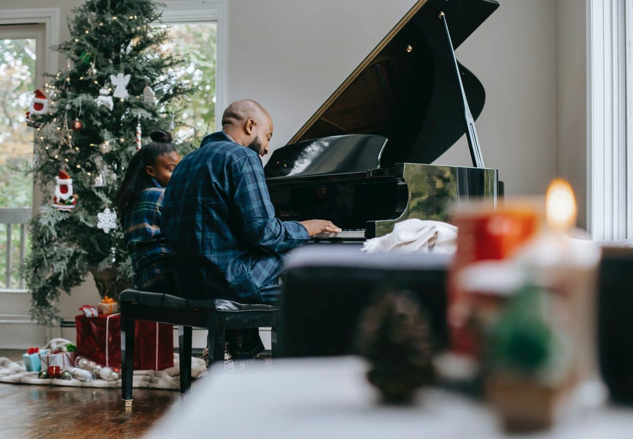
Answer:
[{"label": "crumpled white blanket beside the piano keyboard", "polygon": [[457,248],[457,227],[441,221],[406,219],[394,231],[363,244],[368,253],[453,254]]}]

